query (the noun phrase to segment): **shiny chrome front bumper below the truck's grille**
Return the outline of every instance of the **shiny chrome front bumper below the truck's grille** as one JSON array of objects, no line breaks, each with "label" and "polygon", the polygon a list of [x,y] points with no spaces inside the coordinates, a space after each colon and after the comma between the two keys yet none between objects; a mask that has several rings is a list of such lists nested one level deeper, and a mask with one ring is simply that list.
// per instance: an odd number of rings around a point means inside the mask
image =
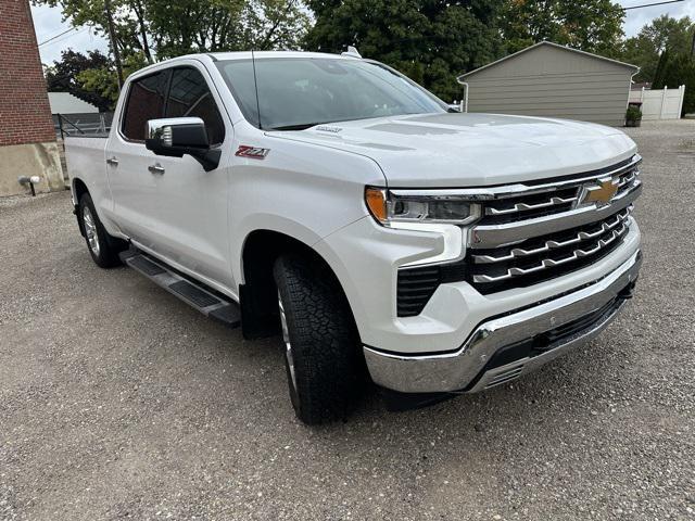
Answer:
[{"label": "shiny chrome front bumper below the truck's grille", "polygon": [[[401,393],[478,392],[514,380],[596,336],[616,317],[624,300],[621,292],[637,278],[642,256],[633,254],[604,278],[581,290],[516,313],[490,319],[476,328],[455,352],[435,355],[400,355],[364,346],[371,379]],[[615,302],[615,306],[609,306]],[[540,354],[485,369],[500,350],[536,339],[563,326],[571,326],[606,306],[606,313]]]}]

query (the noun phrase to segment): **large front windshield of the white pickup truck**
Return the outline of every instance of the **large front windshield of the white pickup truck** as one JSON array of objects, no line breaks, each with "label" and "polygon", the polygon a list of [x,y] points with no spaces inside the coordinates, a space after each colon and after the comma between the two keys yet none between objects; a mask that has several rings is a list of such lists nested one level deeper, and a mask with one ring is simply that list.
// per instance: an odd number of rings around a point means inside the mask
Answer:
[{"label": "large front windshield of the white pickup truck", "polygon": [[257,59],[257,86],[251,60],[216,64],[244,117],[258,128],[300,130],[321,123],[446,112],[441,100],[379,63]]}]

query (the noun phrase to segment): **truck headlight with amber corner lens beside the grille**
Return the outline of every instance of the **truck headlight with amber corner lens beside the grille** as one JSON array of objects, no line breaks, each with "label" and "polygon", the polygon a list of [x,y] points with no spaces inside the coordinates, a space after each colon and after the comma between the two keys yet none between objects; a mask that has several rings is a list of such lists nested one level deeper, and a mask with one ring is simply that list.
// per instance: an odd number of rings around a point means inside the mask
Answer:
[{"label": "truck headlight with amber corner lens beside the grille", "polygon": [[387,190],[367,187],[365,202],[372,217],[383,226],[394,223],[468,225],[480,218],[480,204],[460,195],[445,195],[438,190]]}]

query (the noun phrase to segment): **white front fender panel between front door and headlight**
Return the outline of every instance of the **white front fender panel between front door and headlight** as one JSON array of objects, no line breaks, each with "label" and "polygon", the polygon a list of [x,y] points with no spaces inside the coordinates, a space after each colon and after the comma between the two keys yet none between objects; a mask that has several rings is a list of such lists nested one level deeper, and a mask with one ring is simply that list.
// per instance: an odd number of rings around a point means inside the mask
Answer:
[{"label": "white front fender panel between front door and headlight", "polygon": [[368,215],[367,185],[384,185],[377,164],[363,155],[287,139],[267,139],[263,160],[238,158],[229,186],[230,258],[243,283],[242,254],[250,233],[276,231],[313,246]]}]

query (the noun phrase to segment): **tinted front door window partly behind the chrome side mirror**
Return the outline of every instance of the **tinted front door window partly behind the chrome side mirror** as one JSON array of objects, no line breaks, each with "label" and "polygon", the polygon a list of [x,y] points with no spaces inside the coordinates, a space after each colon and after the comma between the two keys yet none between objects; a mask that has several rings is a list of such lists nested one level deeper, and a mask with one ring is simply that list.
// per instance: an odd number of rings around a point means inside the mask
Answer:
[{"label": "tinted front door window partly behind the chrome side mirror", "polygon": [[166,104],[166,117],[200,117],[211,144],[225,140],[225,124],[205,79],[194,68],[175,68]]}]

